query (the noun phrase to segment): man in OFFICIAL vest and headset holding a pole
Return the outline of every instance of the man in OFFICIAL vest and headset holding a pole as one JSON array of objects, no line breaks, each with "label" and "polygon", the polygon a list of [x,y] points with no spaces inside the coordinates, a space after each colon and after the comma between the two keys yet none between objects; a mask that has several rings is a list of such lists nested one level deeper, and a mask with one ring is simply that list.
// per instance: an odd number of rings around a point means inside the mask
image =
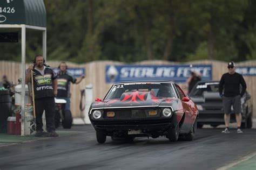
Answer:
[{"label": "man in OFFICIAL vest and headset holding a pole", "polygon": [[[35,111],[36,111],[36,134],[37,137],[57,137],[55,132],[55,99],[57,95],[57,75],[44,64],[42,55],[36,55],[33,61],[34,65],[30,65],[26,70],[26,83],[31,82],[31,70],[33,70],[33,89],[35,94]],[[43,131],[43,111],[45,110],[46,130]]]}]

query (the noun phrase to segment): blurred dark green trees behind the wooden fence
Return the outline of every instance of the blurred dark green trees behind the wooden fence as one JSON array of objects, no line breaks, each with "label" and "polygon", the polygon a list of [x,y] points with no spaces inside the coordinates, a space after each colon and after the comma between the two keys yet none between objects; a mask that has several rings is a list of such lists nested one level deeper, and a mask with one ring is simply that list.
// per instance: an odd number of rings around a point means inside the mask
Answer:
[{"label": "blurred dark green trees behind the wooden fence", "polygon": [[[49,60],[242,61],[256,59],[253,0],[44,0]],[[21,40],[0,43],[1,60],[21,60]],[[11,50],[10,50],[11,49]],[[26,61],[42,53],[28,31]]]}]

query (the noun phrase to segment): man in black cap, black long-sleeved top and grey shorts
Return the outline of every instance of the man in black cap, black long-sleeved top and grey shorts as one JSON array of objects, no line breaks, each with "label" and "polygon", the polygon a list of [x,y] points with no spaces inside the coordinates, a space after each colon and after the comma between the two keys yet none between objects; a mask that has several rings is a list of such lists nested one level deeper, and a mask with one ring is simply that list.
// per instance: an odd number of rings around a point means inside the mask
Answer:
[{"label": "man in black cap, black long-sleeved top and grey shorts", "polygon": [[[220,97],[223,98],[223,107],[225,112],[224,121],[226,126],[225,130],[222,132],[230,133],[228,126],[230,125],[231,107],[233,107],[235,119],[237,121],[237,133],[242,133],[240,129],[242,121],[241,97],[245,94],[246,83],[244,77],[242,77],[241,74],[235,72],[235,63],[233,61],[228,62],[227,68],[228,73],[225,73],[221,76],[219,83],[219,93]],[[241,92],[240,84],[242,86]]]}]

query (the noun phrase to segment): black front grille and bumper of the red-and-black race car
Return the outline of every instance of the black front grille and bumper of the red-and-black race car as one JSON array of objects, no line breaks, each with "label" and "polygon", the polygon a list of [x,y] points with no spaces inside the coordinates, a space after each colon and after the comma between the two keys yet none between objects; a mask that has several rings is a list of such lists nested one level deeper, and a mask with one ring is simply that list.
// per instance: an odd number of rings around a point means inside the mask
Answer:
[{"label": "black front grille and bumper of the red-and-black race car", "polygon": [[[164,117],[161,115],[164,108],[102,109],[101,118],[95,119],[92,114],[89,114],[89,118],[96,130],[166,130],[172,125],[175,114],[173,112],[171,117]],[[149,115],[150,111],[156,111],[156,115]],[[107,117],[107,112],[114,112],[114,117]]]}]

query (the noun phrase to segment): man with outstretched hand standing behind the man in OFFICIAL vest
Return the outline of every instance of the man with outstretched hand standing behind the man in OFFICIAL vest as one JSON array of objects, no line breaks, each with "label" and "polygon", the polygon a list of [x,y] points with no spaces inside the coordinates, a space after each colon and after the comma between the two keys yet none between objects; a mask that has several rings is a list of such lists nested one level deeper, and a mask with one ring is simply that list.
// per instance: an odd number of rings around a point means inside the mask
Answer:
[{"label": "man with outstretched hand standing behind the man in OFFICIAL vest", "polygon": [[59,64],[59,72],[57,73],[57,82],[58,82],[58,98],[63,98],[66,100],[65,110],[70,110],[70,82],[78,84],[80,83],[85,76],[82,75],[79,78],[71,75],[66,69],[68,66],[64,61]]}]

